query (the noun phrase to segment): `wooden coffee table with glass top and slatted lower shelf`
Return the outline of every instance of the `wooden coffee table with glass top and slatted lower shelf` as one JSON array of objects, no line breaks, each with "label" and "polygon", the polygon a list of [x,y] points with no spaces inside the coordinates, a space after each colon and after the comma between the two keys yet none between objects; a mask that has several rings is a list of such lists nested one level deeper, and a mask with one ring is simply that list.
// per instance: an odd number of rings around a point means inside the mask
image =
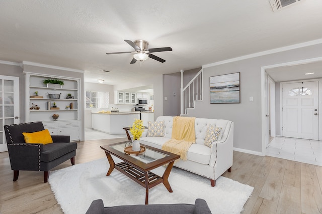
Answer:
[{"label": "wooden coffee table with glass top and slatted lower shelf", "polygon": [[[179,159],[180,155],[143,144],[141,145],[145,146],[144,153],[137,156],[128,155],[124,153],[124,148],[131,144],[131,141],[124,141],[101,146],[110,163],[110,168],[106,176],[109,176],[113,169],[116,168],[141,186],[145,187],[145,204],[148,204],[149,188],[152,188],[157,184],[163,183],[169,192],[173,192],[168,177],[175,160]],[[122,159],[123,162],[115,164],[111,154]],[[168,166],[162,177],[150,171],[165,164],[168,164]]]}]

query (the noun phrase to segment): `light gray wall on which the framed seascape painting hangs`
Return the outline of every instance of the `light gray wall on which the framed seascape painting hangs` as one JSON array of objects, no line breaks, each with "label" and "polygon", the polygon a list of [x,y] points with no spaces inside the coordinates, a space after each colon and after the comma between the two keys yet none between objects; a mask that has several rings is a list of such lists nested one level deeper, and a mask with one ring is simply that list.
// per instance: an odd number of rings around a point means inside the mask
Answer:
[{"label": "light gray wall on which the framed seascape painting hangs", "polygon": [[[321,57],[321,50],[322,44],[318,44],[221,65],[204,66],[203,101],[196,102],[195,109],[190,109],[188,116],[232,120],[234,147],[262,152],[261,67]],[[235,72],[240,72],[240,103],[210,104],[209,78]],[[254,97],[253,102],[249,101],[250,96]]]}]

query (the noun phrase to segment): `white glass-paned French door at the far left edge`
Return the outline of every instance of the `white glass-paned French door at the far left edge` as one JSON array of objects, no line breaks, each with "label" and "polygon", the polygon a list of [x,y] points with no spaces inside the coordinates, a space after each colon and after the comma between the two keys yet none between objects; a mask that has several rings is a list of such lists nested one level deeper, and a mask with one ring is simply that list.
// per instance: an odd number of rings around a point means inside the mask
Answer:
[{"label": "white glass-paned French door at the far left edge", "polygon": [[0,75],[0,152],[8,151],[4,125],[19,122],[19,77]]}]

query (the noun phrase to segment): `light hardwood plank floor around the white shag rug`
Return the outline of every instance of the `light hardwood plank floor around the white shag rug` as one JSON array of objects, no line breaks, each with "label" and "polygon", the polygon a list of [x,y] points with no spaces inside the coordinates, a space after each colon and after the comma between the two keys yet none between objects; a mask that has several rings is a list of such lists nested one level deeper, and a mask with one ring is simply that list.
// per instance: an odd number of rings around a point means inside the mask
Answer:
[{"label": "light hardwood plank floor around the white shag rug", "polygon": [[[106,157],[100,146],[119,141],[79,142],[75,163]],[[66,161],[53,170],[70,165]],[[232,171],[223,176],[255,187],[243,213],[322,213],[321,166],[234,151]],[[2,152],[0,213],[62,213],[49,183],[43,183],[43,172],[21,171],[18,181],[12,179],[8,152]]]}]

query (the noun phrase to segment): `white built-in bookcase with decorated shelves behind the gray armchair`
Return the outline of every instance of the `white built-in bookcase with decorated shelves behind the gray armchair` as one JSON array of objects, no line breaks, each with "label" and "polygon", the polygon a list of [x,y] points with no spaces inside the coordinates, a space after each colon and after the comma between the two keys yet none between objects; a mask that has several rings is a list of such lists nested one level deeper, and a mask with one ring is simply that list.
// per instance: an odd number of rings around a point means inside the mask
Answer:
[{"label": "white built-in bookcase with decorated shelves behind the gray armchair", "polygon": [[[26,74],[26,122],[42,121],[45,129],[48,129],[52,135],[69,135],[70,140],[81,140],[80,79],[24,73]],[[64,84],[61,87],[58,85],[57,88],[47,87],[43,83],[45,79],[61,80]],[[35,96],[36,92],[38,96]],[[52,107],[53,103],[57,108]],[[33,105],[37,105],[39,109],[32,109]],[[67,109],[67,106],[71,109]],[[52,118],[53,114],[59,115],[56,121]]]}]

